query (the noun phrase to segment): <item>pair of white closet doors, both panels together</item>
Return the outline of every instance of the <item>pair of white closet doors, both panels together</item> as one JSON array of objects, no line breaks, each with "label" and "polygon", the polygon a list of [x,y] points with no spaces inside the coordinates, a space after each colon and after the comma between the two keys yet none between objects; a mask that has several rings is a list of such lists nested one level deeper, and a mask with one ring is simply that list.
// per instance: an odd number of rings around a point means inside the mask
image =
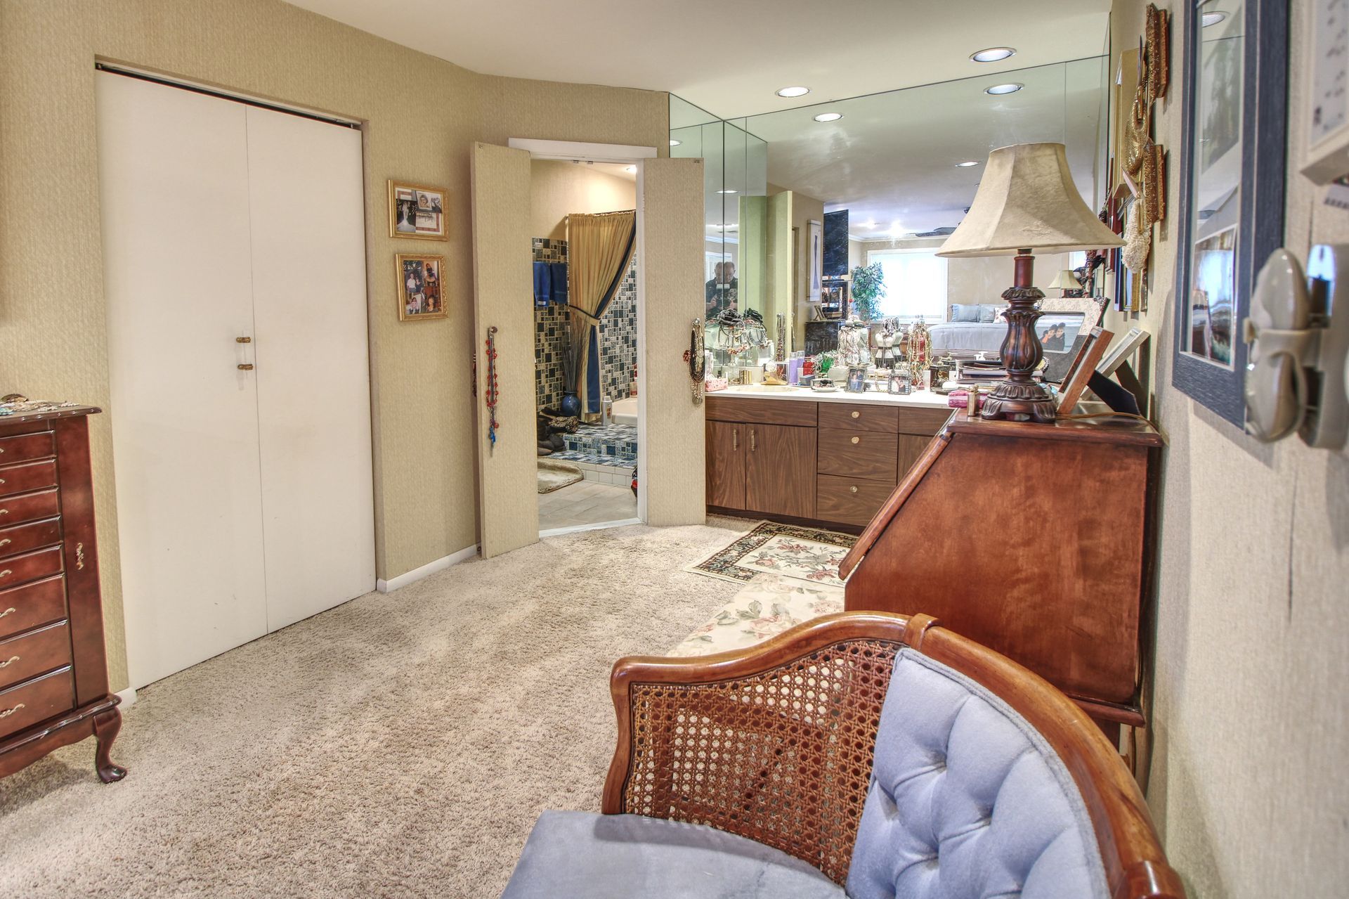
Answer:
[{"label": "pair of white closet doors, both panels together", "polygon": [[131,684],[375,587],[360,132],[97,76]]}]

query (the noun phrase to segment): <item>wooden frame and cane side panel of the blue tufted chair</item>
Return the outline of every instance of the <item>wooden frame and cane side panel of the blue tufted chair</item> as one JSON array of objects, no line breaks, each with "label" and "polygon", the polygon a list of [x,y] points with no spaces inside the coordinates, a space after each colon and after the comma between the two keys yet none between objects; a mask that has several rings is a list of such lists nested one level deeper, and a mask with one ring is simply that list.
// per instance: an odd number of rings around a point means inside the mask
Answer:
[{"label": "wooden frame and cane side panel of the blue tufted chair", "polygon": [[935,625],[923,614],[843,611],[747,649],[619,659],[604,814],[711,825],[843,883],[880,703],[894,655],[909,647],[990,690],[1054,746],[1086,803],[1114,899],[1183,899],[1139,786],[1099,728],[1039,675]]}]

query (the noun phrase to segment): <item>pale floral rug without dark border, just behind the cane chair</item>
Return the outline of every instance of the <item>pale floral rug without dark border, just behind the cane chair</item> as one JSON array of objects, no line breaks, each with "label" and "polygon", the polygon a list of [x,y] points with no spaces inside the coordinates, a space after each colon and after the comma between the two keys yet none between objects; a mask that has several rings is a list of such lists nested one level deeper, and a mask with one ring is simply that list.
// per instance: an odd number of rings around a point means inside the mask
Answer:
[{"label": "pale floral rug without dark border, just behind the cane chair", "polygon": [[832,611],[843,611],[842,586],[812,586],[795,578],[761,574],[669,655],[704,656],[743,649]]}]

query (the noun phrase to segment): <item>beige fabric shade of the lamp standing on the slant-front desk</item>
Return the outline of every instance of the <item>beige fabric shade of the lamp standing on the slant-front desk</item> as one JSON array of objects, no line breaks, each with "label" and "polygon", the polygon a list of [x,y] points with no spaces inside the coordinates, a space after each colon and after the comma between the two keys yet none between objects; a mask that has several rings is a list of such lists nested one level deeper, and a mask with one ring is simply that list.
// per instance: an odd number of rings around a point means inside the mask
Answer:
[{"label": "beige fabric shade of the lamp standing on the slant-front desk", "polygon": [[974,204],[936,255],[1071,252],[1124,240],[1082,201],[1062,143],[1017,143],[989,154]]}]

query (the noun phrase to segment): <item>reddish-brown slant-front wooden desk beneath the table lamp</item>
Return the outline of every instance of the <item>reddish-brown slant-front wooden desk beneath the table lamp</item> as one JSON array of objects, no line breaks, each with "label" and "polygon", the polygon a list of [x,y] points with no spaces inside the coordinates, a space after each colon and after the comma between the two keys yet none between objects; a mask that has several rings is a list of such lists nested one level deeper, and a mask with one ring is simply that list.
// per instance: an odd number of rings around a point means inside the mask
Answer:
[{"label": "reddish-brown slant-front wooden desk beneath the table lamp", "polygon": [[843,559],[844,606],[934,616],[1063,690],[1108,734],[1143,726],[1161,445],[1141,421],[960,410]]}]

